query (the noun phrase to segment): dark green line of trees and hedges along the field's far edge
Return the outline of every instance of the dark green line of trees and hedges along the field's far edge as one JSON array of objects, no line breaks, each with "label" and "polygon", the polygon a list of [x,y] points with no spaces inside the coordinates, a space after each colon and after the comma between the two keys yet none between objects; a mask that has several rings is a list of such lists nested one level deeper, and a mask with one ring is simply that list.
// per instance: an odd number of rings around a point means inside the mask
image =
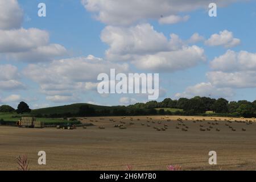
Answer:
[{"label": "dark green line of trees and hedges along the field's far edge", "polygon": [[[180,109],[170,111],[166,108]],[[15,112],[18,114],[30,113],[31,109],[25,102],[20,102],[15,110],[8,105],[0,106],[0,113]],[[207,111],[212,111],[212,115],[230,115],[233,117],[256,117],[256,101],[249,102],[225,100],[225,98],[193,97],[179,98],[172,100],[166,98],[162,102],[149,101],[137,103],[129,106],[112,106],[96,109],[93,106],[82,105],[77,113],[64,114],[38,114],[37,117],[84,117],[84,116],[112,116],[112,115],[205,115]],[[209,114],[207,114],[209,115]]]}]

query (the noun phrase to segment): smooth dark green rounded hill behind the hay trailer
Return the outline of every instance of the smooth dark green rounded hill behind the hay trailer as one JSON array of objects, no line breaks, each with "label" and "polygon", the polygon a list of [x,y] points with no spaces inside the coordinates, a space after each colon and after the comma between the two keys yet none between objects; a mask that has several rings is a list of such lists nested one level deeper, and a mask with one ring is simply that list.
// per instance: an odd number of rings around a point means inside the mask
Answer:
[{"label": "smooth dark green rounded hill behind the hay trailer", "polygon": [[31,114],[65,114],[71,113],[76,114],[79,112],[81,106],[87,105],[91,108],[94,108],[96,111],[109,109],[112,110],[115,106],[98,106],[93,104],[71,104],[71,105],[64,105],[64,106],[56,106],[56,107],[46,107],[42,109],[34,109],[31,111]]}]

